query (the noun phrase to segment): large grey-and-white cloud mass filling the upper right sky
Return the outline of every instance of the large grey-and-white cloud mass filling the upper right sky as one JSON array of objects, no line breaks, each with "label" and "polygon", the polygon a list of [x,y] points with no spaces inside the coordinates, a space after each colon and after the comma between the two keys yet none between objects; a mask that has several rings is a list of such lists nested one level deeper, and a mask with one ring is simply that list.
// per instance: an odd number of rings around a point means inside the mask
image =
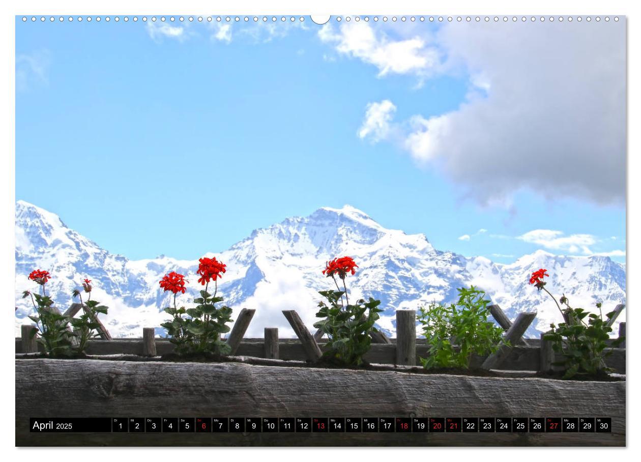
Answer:
[{"label": "large grey-and-white cloud mass filling the upper right sky", "polygon": [[[404,136],[400,142],[385,138],[399,142],[419,165],[442,171],[466,197],[506,208],[519,190],[547,199],[624,202],[624,21],[598,28],[578,22],[445,24],[433,40],[437,51],[420,38],[391,42],[369,24],[354,26],[344,24],[339,32],[325,26],[321,39],[373,63],[379,76],[430,69],[467,82],[458,108],[386,120],[387,133],[395,127]],[[433,59],[405,59],[401,65],[395,56],[388,62],[377,51],[381,46],[406,47],[412,56]],[[446,58],[435,62],[438,56]],[[429,102],[425,112],[431,112]]]}]

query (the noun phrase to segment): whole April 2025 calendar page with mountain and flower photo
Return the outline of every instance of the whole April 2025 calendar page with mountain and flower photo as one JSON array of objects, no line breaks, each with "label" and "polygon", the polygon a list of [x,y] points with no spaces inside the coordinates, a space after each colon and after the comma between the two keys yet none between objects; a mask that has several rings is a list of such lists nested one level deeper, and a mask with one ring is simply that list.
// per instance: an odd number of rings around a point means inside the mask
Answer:
[{"label": "whole April 2025 calendar page with mountain and flower photo", "polygon": [[624,447],[626,15],[215,7],[15,16],[15,445]]}]

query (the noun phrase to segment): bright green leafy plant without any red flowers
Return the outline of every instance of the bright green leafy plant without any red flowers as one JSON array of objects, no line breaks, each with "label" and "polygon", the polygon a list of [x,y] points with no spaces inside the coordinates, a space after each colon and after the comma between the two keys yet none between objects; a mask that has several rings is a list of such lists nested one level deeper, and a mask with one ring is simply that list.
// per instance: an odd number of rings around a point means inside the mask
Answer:
[{"label": "bright green leafy plant without any red flowers", "polygon": [[485,356],[508,344],[503,329],[488,320],[490,301],[474,286],[458,289],[456,303],[420,307],[418,320],[429,345],[429,356],[420,358],[424,368],[469,368],[473,354]]}]

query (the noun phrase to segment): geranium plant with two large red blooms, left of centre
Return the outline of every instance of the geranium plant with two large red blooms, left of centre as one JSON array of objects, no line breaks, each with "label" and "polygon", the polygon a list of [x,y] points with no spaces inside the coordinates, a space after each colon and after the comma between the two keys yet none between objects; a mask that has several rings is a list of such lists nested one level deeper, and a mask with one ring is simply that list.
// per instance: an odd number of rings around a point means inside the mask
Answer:
[{"label": "geranium plant with two large red blooms, left of centre", "polygon": [[[165,292],[174,293],[174,306],[165,308],[165,312],[173,316],[171,322],[161,324],[171,336],[171,342],[176,345],[176,353],[185,354],[228,354],[230,350],[226,342],[222,342],[221,334],[229,332],[231,308],[216,304],[223,301],[217,297],[218,279],[226,272],[226,265],[216,258],[201,258],[197,274],[198,282],[204,285],[200,297],[194,300],[195,308],[176,306],[178,292],[185,293],[185,277],[171,272],[163,277],[160,286]],[[208,292],[210,283],[214,283],[213,295]],[[187,315],[188,317],[183,317]]]}]

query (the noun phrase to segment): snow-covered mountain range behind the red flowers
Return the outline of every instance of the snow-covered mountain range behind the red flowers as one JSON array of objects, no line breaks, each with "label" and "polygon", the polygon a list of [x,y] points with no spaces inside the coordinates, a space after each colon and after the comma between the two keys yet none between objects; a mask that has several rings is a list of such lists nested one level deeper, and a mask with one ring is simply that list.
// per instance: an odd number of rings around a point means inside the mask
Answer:
[{"label": "snow-covered mountain range behind the red flowers", "polygon": [[[136,238],[135,235],[132,238]],[[434,249],[426,236],[406,235],[386,229],[351,206],[320,208],[309,217],[294,217],[263,229],[216,256],[228,271],[219,285],[226,304],[237,310],[255,308],[248,336],[262,337],[263,327],[279,327],[281,337],[294,336],[281,310],[296,309],[310,330],[315,322],[317,290],[333,287],[321,274],[324,263],[349,255],[358,264],[348,279],[350,297],[381,300],[379,326],[395,331],[395,309],[418,308],[432,301],[453,301],[456,288],[476,285],[510,317],[520,311],[538,310],[529,336],[560,322],[554,302],[528,284],[529,275],[547,268],[546,286],[552,293],[569,297],[573,306],[595,309],[603,301],[604,312],[626,300],[626,270],[609,257],[555,256],[537,251],[510,265],[487,258],[466,258]],[[159,256],[153,260],[128,260],[110,254],[99,245],[69,229],[58,215],[28,202],[16,204],[15,223],[15,331],[29,324],[33,307],[21,299],[23,290],[37,290],[27,276],[31,270],[48,270],[52,279],[47,292],[66,308],[81,281],[92,279],[94,299],[109,306],[106,326],[113,336],[142,336],[142,327],[158,327],[168,318],[163,312],[171,297],[158,281],[170,271],[185,274],[190,290],[179,295],[189,306],[201,290],[196,283],[197,260]],[[625,319],[623,313],[619,320]],[[615,329],[615,332],[617,330]],[[162,333],[158,328],[157,332]]]}]

